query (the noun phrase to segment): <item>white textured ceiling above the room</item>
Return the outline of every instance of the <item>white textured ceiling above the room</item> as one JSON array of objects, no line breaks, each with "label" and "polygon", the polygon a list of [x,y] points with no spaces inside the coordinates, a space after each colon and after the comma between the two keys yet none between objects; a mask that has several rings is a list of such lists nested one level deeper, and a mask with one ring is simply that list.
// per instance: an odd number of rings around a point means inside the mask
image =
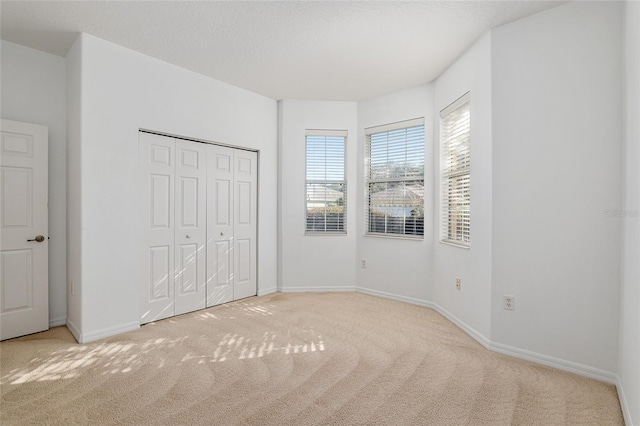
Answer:
[{"label": "white textured ceiling above the room", "polygon": [[548,1],[2,1],[2,39],[64,56],[86,32],[274,99],[362,100],[435,79]]}]

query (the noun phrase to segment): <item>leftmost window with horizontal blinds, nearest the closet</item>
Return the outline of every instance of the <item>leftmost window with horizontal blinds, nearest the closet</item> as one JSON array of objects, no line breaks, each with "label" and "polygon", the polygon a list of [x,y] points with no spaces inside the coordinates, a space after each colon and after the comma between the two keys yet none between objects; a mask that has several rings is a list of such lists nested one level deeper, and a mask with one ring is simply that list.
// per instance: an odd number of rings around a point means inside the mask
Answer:
[{"label": "leftmost window with horizontal blinds, nearest the closet", "polygon": [[347,232],[346,138],[346,131],[307,130],[307,234]]}]

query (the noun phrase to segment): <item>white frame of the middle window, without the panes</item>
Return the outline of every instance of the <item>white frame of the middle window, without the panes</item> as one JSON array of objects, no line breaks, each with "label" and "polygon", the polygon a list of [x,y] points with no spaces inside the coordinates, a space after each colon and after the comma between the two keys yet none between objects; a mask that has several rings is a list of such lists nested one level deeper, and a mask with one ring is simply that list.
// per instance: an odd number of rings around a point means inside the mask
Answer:
[{"label": "white frame of the middle window, without the panes", "polygon": [[[373,135],[380,133],[393,132],[397,130],[403,129],[411,129],[414,127],[422,127],[422,174],[415,176],[404,176],[404,177],[396,177],[396,178],[372,178],[371,177],[371,138]],[[378,238],[395,238],[395,239],[405,239],[405,240],[414,240],[414,241],[424,241],[424,233],[425,233],[425,219],[424,212],[425,209],[425,197],[424,197],[424,183],[425,183],[425,152],[426,152],[426,129],[425,129],[425,118],[419,117],[409,120],[398,121],[394,123],[384,124],[380,126],[373,126],[364,129],[365,134],[365,148],[364,148],[364,214],[365,214],[365,224],[364,224],[364,235],[367,237],[378,237]],[[405,144],[407,140],[405,140]],[[371,184],[376,183],[403,183],[407,184],[410,182],[421,182],[423,193],[422,193],[422,211],[423,211],[423,219],[422,219],[422,233],[421,234],[409,234],[406,233],[406,228],[404,233],[396,233],[396,232],[372,232],[371,231]],[[386,217],[386,216],[385,216]],[[406,217],[406,216],[404,216]],[[404,224],[406,227],[406,223]],[[385,222],[386,227],[386,222]]]}]

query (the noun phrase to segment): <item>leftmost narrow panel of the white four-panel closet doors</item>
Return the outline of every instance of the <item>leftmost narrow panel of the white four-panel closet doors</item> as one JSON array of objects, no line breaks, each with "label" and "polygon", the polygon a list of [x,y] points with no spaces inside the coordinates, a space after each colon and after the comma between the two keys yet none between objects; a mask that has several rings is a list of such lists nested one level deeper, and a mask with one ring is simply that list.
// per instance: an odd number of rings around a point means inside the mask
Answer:
[{"label": "leftmost narrow panel of the white four-panel closet doors", "polygon": [[175,141],[139,134],[141,323],[175,315]]}]

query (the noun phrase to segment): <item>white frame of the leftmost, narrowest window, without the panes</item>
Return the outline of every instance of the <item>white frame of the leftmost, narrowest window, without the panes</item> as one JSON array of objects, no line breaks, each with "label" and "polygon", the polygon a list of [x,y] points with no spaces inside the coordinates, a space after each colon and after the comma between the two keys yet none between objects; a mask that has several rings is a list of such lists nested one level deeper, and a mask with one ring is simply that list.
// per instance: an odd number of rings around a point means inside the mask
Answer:
[{"label": "white frame of the leftmost, narrowest window, without the panes", "polygon": [[[342,148],[342,157],[343,157],[343,163],[342,163],[342,180],[338,180],[338,179],[309,179],[308,178],[308,172],[309,172],[309,137],[314,137],[314,136],[320,136],[320,137],[340,137],[343,139],[343,148]],[[348,138],[348,132],[346,130],[327,130],[327,129],[306,129],[305,130],[305,190],[304,190],[304,194],[305,194],[305,199],[304,199],[304,222],[305,222],[305,226],[304,226],[304,235],[333,235],[333,236],[338,236],[338,235],[347,235],[347,138]],[[326,140],[325,140],[325,146],[326,146]],[[325,157],[325,165],[326,165],[326,157]],[[326,176],[325,176],[326,177]],[[309,185],[342,185],[343,188],[343,196],[342,196],[342,206],[343,206],[343,211],[342,211],[342,229],[340,230],[327,230],[327,221],[326,221],[326,209],[327,206],[325,206],[325,229],[324,230],[317,230],[317,229],[309,229],[309,222],[308,222],[308,214],[309,214],[309,192],[308,192],[308,188]]]}]

